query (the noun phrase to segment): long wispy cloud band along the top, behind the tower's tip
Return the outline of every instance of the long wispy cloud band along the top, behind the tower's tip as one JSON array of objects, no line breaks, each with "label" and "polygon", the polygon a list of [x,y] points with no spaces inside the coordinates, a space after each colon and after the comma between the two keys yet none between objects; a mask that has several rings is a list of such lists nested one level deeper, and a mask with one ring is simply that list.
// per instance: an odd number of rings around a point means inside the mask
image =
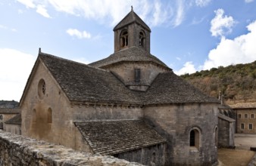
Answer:
[{"label": "long wispy cloud band along the top, behind the tower's tip", "polygon": [[[149,26],[179,26],[186,15],[187,2],[185,0],[17,0],[27,8],[34,8],[44,17],[50,17],[48,8],[55,11],[73,14],[86,19],[94,19],[100,23],[116,25],[130,10],[134,11],[148,23]],[[198,1],[198,0],[197,0]],[[207,4],[210,0],[198,1],[198,5]]]}]

